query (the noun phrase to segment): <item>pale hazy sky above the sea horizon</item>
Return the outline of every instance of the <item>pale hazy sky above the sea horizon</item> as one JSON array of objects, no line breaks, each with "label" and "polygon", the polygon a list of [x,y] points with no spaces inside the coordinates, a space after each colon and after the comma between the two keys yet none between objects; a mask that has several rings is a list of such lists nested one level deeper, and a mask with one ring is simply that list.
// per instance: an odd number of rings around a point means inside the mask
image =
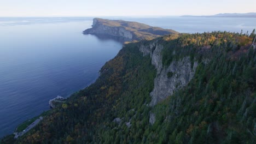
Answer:
[{"label": "pale hazy sky above the sea horizon", "polygon": [[0,16],[167,16],[256,12],[255,0],[0,0]]}]

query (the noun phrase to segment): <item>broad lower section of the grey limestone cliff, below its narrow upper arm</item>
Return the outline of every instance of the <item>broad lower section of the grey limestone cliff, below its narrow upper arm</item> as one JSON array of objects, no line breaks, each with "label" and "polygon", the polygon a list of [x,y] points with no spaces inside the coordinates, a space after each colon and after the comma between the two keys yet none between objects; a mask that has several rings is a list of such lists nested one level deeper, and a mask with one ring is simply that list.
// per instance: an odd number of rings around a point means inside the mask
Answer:
[{"label": "broad lower section of the grey limestone cliff, below its narrow upper arm", "polygon": [[[182,61],[174,61],[169,67],[162,68],[154,80],[154,89],[150,93],[152,96],[150,105],[156,105],[159,101],[166,99],[178,89],[186,86],[193,78],[197,65],[198,63],[195,62],[193,68],[191,68],[189,57],[185,57]],[[168,77],[168,72],[171,72],[173,76]]]}]

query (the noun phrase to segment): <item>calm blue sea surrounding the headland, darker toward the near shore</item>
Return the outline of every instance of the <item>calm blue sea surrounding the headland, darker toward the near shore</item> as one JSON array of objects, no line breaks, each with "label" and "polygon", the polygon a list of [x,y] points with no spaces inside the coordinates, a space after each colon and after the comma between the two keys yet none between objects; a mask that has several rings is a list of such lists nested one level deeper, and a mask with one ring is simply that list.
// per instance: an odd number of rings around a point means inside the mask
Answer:
[{"label": "calm blue sea surrounding the headland, darker toward the near shore", "polygon": [[[0,137],[49,110],[48,101],[94,82],[122,44],[83,35],[93,17],[0,17]],[[104,17],[178,32],[249,32],[255,18]]]}]

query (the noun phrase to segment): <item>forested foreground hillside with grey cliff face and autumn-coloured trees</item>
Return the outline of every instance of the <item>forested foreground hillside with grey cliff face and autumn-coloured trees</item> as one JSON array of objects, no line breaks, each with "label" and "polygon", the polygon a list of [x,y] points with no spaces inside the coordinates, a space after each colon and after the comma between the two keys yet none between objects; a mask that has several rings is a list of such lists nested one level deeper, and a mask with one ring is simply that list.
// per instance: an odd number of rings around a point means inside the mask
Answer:
[{"label": "forested foreground hillside with grey cliff face and autumn-coloured trees", "polygon": [[126,44],[95,83],[15,143],[255,143],[253,37],[173,34]]}]

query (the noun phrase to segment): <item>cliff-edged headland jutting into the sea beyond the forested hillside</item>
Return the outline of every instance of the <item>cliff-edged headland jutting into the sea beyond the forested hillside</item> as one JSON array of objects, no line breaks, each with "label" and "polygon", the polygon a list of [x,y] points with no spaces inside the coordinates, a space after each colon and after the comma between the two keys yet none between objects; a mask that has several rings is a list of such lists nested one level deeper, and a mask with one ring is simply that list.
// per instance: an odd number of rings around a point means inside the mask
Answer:
[{"label": "cliff-edged headland jutting into the sea beyond the forested hillside", "polygon": [[172,29],[152,27],[139,22],[123,20],[107,20],[95,18],[92,28],[83,31],[84,34],[109,35],[120,38],[121,41],[138,41],[154,39],[161,35],[178,33]]}]

